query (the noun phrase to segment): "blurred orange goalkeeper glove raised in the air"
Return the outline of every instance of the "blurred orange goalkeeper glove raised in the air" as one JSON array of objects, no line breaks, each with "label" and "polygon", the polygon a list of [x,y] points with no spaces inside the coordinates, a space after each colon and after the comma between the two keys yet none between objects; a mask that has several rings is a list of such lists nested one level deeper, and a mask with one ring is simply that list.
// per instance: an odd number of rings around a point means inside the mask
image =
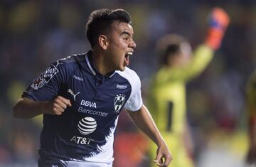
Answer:
[{"label": "blurred orange goalkeeper glove raised in the air", "polygon": [[230,22],[230,18],[223,9],[216,7],[210,12],[209,22],[210,27],[208,29],[206,44],[213,50],[216,50],[220,47],[225,30]]}]

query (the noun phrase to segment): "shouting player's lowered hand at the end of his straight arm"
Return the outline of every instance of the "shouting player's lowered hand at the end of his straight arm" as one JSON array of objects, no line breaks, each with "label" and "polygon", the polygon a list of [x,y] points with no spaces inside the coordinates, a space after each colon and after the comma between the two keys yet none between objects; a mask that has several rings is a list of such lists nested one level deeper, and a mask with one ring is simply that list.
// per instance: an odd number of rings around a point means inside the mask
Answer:
[{"label": "shouting player's lowered hand at the end of his straight arm", "polygon": [[157,166],[169,166],[171,163],[171,160],[173,157],[171,156],[171,153],[166,146],[165,142],[162,142],[162,144],[159,145],[157,151],[156,151],[156,158],[154,160],[154,163],[156,163]]}]

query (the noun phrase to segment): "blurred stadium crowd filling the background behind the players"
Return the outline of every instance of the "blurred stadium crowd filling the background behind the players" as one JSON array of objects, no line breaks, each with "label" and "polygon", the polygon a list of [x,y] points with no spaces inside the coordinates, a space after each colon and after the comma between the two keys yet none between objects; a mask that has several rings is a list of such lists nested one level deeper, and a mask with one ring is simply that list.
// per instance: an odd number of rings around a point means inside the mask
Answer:
[{"label": "blurred stadium crowd filling the background behind the players", "polygon": [[[208,68],[188,84],[188,119],[198,166],[207,167],[206,159],[218,146],[230,146],[230,152],[236,150],[242,158],[247,149],[245,82],[256,67],[255,1],[1,0],[0,166],[36,166],[41,121],[14,119],[12,106],[47,65],[90,48],[85,21],[91,11],[124,8],[131,14],[137,48],[130,68],[141,77],[146,102],[150,77],[158,68],[156,40],[166,33],[179,33],[195,47],[205,38],[205,18],[213,6],[230,14],[230,26]],[[115,166],[124,166],[118,163],[124,164],[127,157],[134,162],[129,166],[146,166],[144,135],[135,130],[126,114],[120,119]]]}]

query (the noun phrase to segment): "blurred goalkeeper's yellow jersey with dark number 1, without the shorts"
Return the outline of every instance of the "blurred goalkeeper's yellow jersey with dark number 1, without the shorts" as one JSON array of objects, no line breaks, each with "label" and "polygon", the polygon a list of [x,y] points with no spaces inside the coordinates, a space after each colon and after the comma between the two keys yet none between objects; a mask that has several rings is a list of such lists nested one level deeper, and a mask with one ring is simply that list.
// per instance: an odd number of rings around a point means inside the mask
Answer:
[{"label": "blurred goalkeeper's yellow jersey with dark number 1, without the shorts", "polygon": [[200,45],[185,68],[161,68],[149,90],[149,111],[160,131],[180,133],[186,119],[186,82],[202,72],[213,50]]}]

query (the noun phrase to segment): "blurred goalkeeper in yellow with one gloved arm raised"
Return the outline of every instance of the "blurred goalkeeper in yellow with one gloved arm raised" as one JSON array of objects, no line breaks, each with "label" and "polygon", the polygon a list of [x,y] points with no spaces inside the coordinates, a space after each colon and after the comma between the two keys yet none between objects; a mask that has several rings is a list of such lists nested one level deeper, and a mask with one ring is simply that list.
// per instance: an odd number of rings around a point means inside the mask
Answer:
[{"label": "blurred goalkeeper in yellow with one gloved arm raised", "polygon": [[[206,41],[193,56],[191,45],[177,34],[167,34],[157,43],[161,68],[149,88],[149,110],[175,157],[172,166],[193,166],[193,142],[186,124],[186,82],[199,75],[213,59],[228,23],[228,14],[223,9],[213,9]],[[154,158],[155,146],[151,148]]]}]

